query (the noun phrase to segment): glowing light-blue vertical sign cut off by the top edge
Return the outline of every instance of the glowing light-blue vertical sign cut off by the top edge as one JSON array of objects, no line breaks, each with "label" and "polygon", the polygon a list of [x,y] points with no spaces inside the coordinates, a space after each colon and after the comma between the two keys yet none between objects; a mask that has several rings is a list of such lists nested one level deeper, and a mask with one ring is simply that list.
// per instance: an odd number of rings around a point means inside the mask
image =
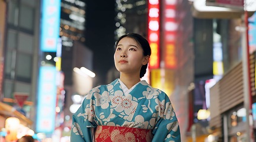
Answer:
[{"label": "glowing light-blue vertical sign cut off by the top edge", "polygon": [[60,29],[60,0],[44,0],[41,9],[41,51],[56,52]]}]

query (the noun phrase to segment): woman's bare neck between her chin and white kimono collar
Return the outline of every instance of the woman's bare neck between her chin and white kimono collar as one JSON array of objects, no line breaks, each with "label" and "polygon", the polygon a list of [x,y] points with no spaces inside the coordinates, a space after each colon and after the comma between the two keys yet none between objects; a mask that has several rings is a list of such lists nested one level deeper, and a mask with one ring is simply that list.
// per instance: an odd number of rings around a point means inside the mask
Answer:
[{"label": "woman's bare neck between her chin and white kimono collar", "polygon": [[128,89],[132,88],[132,86],[136,85],[136,83],[140,82],[139,75],[127,75],[124,73],[120,74],[120,80],[126,85]]}]

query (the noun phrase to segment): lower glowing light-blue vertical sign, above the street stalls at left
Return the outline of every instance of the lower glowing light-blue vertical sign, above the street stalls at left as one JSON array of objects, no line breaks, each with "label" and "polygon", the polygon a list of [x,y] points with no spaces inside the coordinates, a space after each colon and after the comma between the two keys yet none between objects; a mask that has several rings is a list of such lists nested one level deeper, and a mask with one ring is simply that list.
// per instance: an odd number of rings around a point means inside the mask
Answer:
[{"label": "lower glowing light-blue vertical sign, above the street stalls at left", "polygon": [[56,67],[41,66],[37,102],[37,133],[52,133],[55,130]]}]

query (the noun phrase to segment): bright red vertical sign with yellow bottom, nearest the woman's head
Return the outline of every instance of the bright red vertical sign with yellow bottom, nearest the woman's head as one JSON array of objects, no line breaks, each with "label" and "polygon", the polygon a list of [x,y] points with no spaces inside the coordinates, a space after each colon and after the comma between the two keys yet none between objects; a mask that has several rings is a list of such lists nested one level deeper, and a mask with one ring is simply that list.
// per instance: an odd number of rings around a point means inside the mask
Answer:
[{"label": "bright red vertical sign with yellow bottom, nearest the woman's head", "polygon": [[149,0],[148,2],[148,40],[151,46],[151,57],[149,59],[149,69],[159,68],[159,1]]}]

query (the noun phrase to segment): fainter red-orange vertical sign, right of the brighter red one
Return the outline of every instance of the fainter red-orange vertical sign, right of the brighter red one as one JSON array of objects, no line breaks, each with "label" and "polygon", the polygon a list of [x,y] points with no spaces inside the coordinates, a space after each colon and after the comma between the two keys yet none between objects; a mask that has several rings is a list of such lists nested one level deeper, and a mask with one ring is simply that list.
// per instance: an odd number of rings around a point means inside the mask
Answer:
[{"label": "fainter red-orange vertical sign, right of the brighter red one", "polygon": [[176,56],[175,56],[175,38],[177,30],[177,22],[175,21],[175,5],[177,0],[165,0],[164,1],[164,61],[165,68],[175,69],[177,66]]}]

